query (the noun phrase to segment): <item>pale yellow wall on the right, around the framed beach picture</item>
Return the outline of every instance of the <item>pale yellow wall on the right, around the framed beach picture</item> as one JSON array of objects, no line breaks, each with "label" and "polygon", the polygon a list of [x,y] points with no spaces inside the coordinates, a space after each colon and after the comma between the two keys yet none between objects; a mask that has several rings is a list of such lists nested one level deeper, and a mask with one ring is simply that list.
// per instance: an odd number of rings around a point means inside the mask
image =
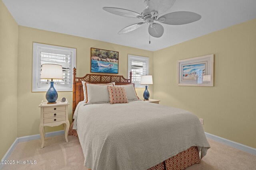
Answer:
[{"label": "pale yellow wall on the right, around the framed beach picture", "polygon": [[[214,87],[178,86],[177,61],[214,54]],[[256,19],[154,52],[154,98],[204,131],[256,148]]]}]

